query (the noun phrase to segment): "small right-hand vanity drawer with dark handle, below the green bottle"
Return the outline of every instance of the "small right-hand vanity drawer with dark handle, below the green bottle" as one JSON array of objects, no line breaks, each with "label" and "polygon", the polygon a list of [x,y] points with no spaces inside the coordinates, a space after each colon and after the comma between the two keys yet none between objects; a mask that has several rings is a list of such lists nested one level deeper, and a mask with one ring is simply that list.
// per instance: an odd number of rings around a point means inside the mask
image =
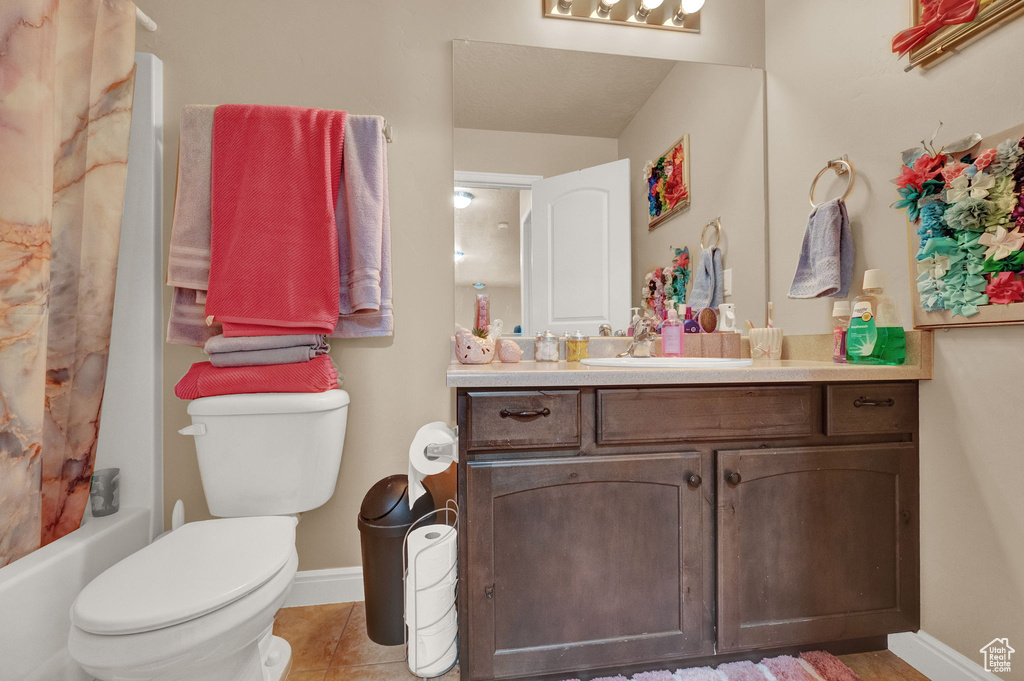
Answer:
[{"label": "small right-hand vanity drawer with dark handle, below the green bottle", "polygon": [[825,434],[912,433],[916,430],[916,383],[828,386]]}]

